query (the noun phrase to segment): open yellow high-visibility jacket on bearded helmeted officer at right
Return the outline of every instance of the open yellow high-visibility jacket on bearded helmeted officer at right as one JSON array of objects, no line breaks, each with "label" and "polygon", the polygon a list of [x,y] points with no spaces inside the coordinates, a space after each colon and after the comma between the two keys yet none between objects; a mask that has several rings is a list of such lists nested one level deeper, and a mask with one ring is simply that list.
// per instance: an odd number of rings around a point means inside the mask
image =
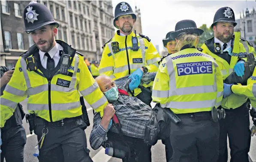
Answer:
[{"label": "open yellow high-visibility jacket on bearded helmeted officer at right", "polygon": [[[244,45],[240,42],[240,32],[234,32],[232,38],[232,46],[232,56],[230,63],[228,63],[225,59],[215,54],[214,37],[206,40],[201,47],[202,53],[206,53],[216,60],[222,73],[223,80],[225,80],[226,77],[228,77],[229,74],[231,74],[234,71],[234,66],[238,61],[243,59],[246,62],[247,60],[247,51],[244,48]],[[252,48],[250,48],[249,52],[255,53]],[[244,95],[231,94],[229,97],[223,98],[221,106],[225,109],[235,109],[243,105],[246,101],[247,97]]]}]

